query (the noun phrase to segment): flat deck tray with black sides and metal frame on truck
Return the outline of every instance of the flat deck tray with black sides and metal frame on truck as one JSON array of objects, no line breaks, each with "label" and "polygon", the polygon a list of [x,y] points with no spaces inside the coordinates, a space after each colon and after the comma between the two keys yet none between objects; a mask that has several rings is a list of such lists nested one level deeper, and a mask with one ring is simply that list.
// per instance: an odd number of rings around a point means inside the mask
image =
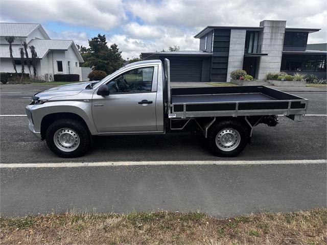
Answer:
[{"label": "flat deck tray with black sides and metal frame on truck", "polygon": [[266,86],[172,88],[176,117],[300,115],[308,100]]}]

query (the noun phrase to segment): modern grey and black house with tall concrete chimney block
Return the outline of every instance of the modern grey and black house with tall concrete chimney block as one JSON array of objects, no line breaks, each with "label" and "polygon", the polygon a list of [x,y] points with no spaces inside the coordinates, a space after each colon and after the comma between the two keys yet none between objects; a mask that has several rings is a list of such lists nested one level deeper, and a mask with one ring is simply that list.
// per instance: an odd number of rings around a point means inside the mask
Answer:
[{"label": "modern grey and black house with tall concrete chimney block", "polygon": [[142,53],[143,59],[170,59],[173,82],[228,82],[244,69],[256,79],[267,72],[302,72],[326,79],[326,51],[307,50],[308,35],[320,29],[287,28],[285,20],[259,27],[208,26],[195,35],[199,51]]}]

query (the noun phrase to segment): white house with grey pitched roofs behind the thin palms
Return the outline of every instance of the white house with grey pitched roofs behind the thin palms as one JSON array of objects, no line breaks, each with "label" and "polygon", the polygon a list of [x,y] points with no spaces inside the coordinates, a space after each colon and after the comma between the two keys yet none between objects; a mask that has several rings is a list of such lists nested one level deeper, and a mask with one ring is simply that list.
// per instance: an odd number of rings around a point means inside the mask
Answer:
[{"label": "white house with grey pitched roofs behind the thin palms", "polygon": [[[80,81],[88,81],[90,72],[88,67],[80,67],[84,62],[73,40],[53,40],[44,31],[40,24],[31,23],[0,23],[0,71],[15,72],[10,58],[9,44],[5,37],[13,36],[12,53],[17,72],[21,71],[19,48],[26,42],[34,46],[38,61],[37,76],[46,81],[53,81],[55,74],[78,74]],[[29,58],[31,52],[28,48]],[[29,69],[25,66],[25,72]],[[31,68],[33,74],[33,68]]]}]

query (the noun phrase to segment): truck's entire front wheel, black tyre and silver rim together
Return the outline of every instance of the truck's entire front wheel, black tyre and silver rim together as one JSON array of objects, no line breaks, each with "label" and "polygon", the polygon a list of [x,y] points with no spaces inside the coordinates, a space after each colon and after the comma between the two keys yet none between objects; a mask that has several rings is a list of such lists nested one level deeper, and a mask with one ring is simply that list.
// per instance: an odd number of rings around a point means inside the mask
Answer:
[{"label": "truck's entire front wheel, black tyre and silver rim together", "polygon": [[59,157],[79,157],[90,146],[87,128],[78,120],[59,119],[45,133],[46,144]]}]

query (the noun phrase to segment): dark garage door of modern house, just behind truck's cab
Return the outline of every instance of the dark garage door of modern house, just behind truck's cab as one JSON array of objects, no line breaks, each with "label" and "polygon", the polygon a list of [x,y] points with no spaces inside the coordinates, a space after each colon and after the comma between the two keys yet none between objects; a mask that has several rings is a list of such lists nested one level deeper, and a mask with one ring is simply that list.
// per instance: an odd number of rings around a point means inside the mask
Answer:
[{"label": "dark garage door of modern house, just behind truck's cab", "polygon": [[202,60],[170,60],[170,81],[201,82]]}]

